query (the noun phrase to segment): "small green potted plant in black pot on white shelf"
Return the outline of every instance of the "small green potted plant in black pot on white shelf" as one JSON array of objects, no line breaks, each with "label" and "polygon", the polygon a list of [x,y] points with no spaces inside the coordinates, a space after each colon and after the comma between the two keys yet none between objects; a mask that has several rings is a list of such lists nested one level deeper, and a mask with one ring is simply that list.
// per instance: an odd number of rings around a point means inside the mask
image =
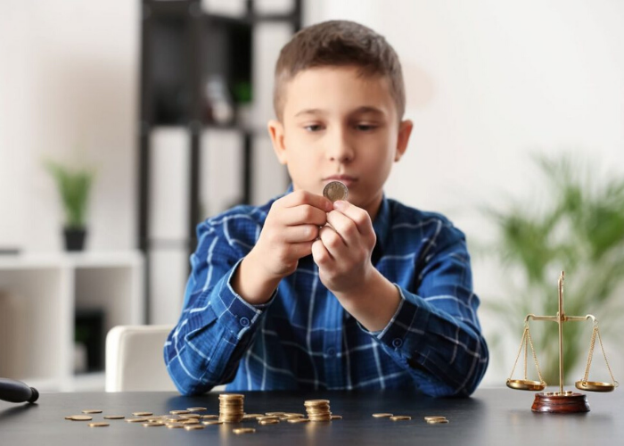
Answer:
[{"label": "small green potted plant in black pot on white shelf", "polygon": [[65,214],[65,249],[82,251],[85,246],[86,211],[94,172],[91,169],[71,169],[53,161],[47,161],[45,167],[53,176],[61,195]]}]

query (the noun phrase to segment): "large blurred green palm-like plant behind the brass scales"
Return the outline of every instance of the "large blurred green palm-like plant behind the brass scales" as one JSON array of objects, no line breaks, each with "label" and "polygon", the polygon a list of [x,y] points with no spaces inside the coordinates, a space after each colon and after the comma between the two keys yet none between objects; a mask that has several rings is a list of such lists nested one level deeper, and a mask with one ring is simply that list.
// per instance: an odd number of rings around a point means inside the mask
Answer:
[{"label": "large blurred green palm-like plant behind the brass scales", "polygon": [[[517,349],[527,314],[557,314],[557,279],[562,270],[565,314],[594,314],[603,338],[612,340],[621,333],[624,314],[624,179],[583,167],[582,161],[572,161],[570,156],[536,157],[536,161],[546,178],[541,200],[534,197],[509,201],[505,209],[487,208],[497,227],[488,254],[500,261],[505,286],[496,298],[484,299],[484,307],[498,317],[501,328],[489,339],[490,347],[501,349],[498,356],[506,360]],[[565,325],[566,377],[587,363],[591,328],[590,323]],[[557,324],[531,323],[530,330],[542,376],[546,383],[557,384]],[[502,342],[503,334],[512,336],[513,343]],[[604,363],[598,365],[601,356],[596,352],[595,373],[605,375]]]}]

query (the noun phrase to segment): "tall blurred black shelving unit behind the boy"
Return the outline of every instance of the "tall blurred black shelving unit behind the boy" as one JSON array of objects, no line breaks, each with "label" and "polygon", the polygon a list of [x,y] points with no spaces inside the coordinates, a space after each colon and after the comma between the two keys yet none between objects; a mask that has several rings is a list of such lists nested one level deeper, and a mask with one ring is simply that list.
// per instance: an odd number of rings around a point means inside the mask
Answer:
[{"label": "tall blurred black shelving unit behind the boy", "polygon": [[[150,323],[150,275],[152,250],[176,246],[190,254],[197,243],[195,227],[201,220],[201,136],[205,129],[228,128],[242,136],[240,181],[242,203],[250,203],[252,185],[253,129],[210,119],[203,86],[211,75],[226,79],[230,92],[252,86],[253,29],[259,23],[301,28],[302,0],[292,0],[291,12],[259,15],[253,0],[246,0],[242,17],[202,11],[201,0],[142,0],[140,120],[139,120],[139,219],[138,244],[145,256],[145,321]],[[234,95],[234,99],[236,99]],[[236,101],[234,101],[235,109]],[[188,229],[185,239],[155,240],[150,237],[151,133],[154,128],[185,128],[190,141],[188,172]]]}]

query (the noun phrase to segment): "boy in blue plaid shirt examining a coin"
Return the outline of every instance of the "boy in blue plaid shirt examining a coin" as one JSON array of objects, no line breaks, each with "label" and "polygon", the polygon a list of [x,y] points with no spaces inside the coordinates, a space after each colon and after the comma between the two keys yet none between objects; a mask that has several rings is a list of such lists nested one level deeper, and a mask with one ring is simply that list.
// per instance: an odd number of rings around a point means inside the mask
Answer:
[{"label": "boy in blue plaid shirt examining a coin", "polygon": [[[464,235],[382,191],[412,131],[397,54],[354,22],[302,29],[277,61],[274,104],[291,190],[198,227],[165,344],[179,391],[473,392],[488,348]],[[322,196],[334,180],[348,202]]]}]

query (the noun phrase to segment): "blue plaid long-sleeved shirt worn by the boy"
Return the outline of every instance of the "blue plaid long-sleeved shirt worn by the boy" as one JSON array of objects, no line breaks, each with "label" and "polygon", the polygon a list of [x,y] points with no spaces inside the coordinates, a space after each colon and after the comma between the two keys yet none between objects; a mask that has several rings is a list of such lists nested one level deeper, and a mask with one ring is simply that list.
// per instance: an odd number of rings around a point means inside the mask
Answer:
[{"label": "blue plaid long-sleeved shirt worn by the boy", "polygon": [[464,234],[439,214],[384,198],[373,263],[401,302],[370,332],[324,287],[312,256],[254,306],[231,280],[273,201],[239,206],[198,227],[199,244],[164,356],[180,392],[415,388],[468,395],[488,367]]}]

